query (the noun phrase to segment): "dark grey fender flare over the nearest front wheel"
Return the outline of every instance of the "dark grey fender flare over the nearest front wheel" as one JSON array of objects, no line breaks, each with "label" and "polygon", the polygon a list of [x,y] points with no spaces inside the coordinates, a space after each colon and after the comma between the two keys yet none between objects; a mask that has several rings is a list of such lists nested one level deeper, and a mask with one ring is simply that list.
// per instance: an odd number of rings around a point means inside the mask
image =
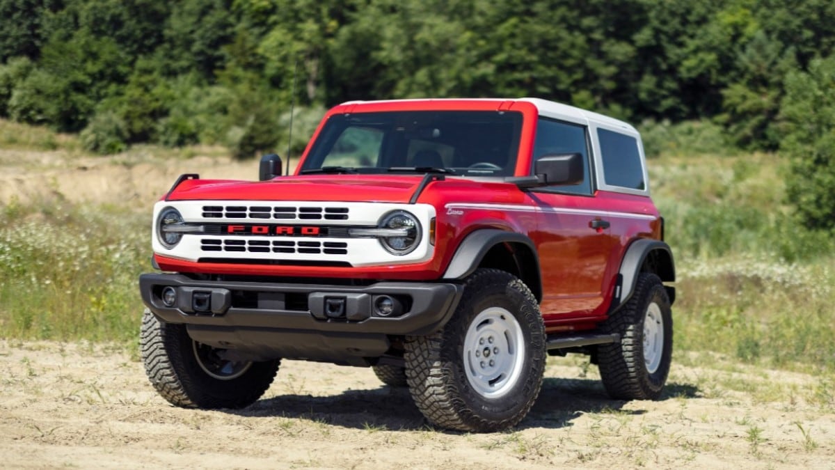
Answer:
[{"label": "dark grey fender flare over the nearest front wheel", "polygon": [[[533,253],[532,259],[529,263],[533,266],[528,266],[528,271],[536,273],[536,285],[529,285],[529,289],[534,292],[534,297],[542,298],[542,273],[539,270],[539,255],[536,251],[536,246],[533,240],[526,235],[518,232],[506,232],[498,228],[482,228],[467,235],[458,245],[455,250],[453,259],[449,262],[447,270],[444,271],[442,278],[446,280],[463,279],[475,272],[478,266],[484,259],[484,256],[499,243],[521,243],[530,249]],[[520,266],[520,268],[525,268]],[[526,284],[530,282],[529,279],[524,279]]]}]

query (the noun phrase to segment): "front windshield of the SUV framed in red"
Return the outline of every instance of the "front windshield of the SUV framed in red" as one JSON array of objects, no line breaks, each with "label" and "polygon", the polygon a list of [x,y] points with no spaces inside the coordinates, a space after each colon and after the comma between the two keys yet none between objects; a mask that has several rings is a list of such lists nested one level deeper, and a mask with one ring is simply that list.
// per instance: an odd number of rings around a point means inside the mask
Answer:
[{"label": "front windshield of the SUV framed in red", "polygon": [[522,114],[397,111],[333,115],[301,173],[437,171],[512,176]]}]

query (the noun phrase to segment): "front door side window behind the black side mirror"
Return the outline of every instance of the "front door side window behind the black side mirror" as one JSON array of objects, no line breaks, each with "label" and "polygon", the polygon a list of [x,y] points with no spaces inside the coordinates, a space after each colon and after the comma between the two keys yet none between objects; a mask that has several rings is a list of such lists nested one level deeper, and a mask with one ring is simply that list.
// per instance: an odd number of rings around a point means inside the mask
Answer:
[{"label": "front door side window behind the black side mirror", "polygon": [[[552,186],[559,192],[591,194],[589,177],[589,151],[585,128],[581,125],[566,124],[558,120],[539,118],[534,139],[534,164],[547,155],[579,153],[583,156],[583,182],[572,186]],[[531,168],[533,171],[533,168]]]}]

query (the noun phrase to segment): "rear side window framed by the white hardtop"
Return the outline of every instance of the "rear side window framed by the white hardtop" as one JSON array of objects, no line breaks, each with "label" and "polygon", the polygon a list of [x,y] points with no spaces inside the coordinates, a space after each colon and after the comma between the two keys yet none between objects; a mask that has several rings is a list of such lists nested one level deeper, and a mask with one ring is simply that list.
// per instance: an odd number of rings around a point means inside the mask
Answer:
[{"label": "rear side window framed by the white hardtop", "polygon": [[598,129],[603,177],[607,185],[629,189],[646,189],[644,168],[640,164],[638,140],[631,135]]}]

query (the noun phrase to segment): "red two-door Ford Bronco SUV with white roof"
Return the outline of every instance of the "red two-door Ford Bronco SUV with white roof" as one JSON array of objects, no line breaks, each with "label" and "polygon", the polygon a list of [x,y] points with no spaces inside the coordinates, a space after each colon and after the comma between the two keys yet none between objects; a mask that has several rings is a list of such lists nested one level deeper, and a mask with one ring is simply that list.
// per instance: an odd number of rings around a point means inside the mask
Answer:
[{"label": "red two-door Ford Bronco SUV with white roof", "polygon": [[547,355],[660,396],[673,256],[640,135],[536,100],[349,102],[292,176],[183,175],[154,206],[141,349],[178,406],[241,407],[280,360],[371,366],[433,424],[519,423]]}]

